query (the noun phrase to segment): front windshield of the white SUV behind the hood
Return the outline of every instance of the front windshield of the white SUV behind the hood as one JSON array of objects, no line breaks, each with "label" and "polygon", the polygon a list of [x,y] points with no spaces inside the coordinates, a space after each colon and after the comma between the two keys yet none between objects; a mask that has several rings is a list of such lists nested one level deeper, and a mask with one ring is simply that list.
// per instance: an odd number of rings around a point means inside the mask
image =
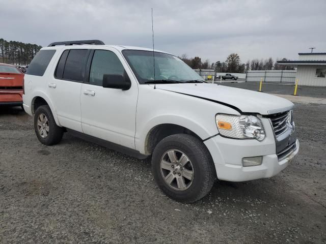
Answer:
[{"label": "front windshield of the white SUV behind the hood", "polygon": [[161,52],[154,52],[154,81],[153,52],[123,50],[122,53],[140,84],[204,82],[203,78],[180,58]]}]

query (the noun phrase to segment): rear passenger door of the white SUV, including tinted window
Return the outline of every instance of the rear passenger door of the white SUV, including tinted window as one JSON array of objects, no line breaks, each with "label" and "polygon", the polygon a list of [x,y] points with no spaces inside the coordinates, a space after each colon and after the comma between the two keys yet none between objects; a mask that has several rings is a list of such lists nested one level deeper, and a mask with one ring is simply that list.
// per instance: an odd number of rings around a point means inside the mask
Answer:
[{"label": "rear passenger door of the white SUV, including tinted window", "polygon": [[85,79],[89,49],[64,50],[47,92],[55,104],[61,126],[83,132],[80,113],[80,89]]}]

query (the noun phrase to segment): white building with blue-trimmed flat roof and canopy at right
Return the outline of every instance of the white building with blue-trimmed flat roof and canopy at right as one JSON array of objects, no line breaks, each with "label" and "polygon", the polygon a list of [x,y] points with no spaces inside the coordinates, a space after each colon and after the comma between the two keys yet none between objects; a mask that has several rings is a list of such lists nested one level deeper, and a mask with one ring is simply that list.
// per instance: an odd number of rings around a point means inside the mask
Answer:
[{"label": "white building with blue-trimmed flat roof and canopy at right", "polygon": [[277,63],[297,67],[296,79],[299,85],[326,86],[326,52],[298,54],[297,60]]}]

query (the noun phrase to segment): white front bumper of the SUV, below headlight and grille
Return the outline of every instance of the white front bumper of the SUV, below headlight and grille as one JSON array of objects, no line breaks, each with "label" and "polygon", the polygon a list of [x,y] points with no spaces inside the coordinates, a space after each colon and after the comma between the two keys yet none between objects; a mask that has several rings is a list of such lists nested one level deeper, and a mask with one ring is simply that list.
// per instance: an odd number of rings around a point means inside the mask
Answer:
[{"label": "white front bumper of the SUV, below headlight and grille", "polygon": [[[268,132],[266,134],[270,135]],[[247,181],[274,176],[294,160],[300,147],[299,141],[296,140],[296,146],[285,157],[279,158],[272,136],[267,136],[263,142],[216,136],[204,143],[211,153],[218,178],[228,181]],[[261,165],[242,166],[242,158],[256,156],[262,156]]]}]

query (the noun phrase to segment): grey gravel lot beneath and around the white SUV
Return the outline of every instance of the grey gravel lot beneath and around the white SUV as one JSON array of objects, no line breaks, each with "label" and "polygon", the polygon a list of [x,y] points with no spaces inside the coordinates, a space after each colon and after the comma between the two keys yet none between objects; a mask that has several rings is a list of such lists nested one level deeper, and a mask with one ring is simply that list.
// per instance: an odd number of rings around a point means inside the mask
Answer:
[{"label": "grey gravel lot beneath and around the white SUV", "polygon": [[66,134],[37,140],[0,108],[1,243],[325,243],[326,106],[296,105],[296,161],[273,178],[216,182],[181,204],[137,160]]}]

